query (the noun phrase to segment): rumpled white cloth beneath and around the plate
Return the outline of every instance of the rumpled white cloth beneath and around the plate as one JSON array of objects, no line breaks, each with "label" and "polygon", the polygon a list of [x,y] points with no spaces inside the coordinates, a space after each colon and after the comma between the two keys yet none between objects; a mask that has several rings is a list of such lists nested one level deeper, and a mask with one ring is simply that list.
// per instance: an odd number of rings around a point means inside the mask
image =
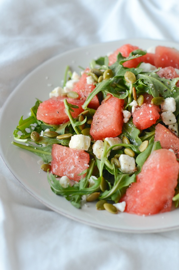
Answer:
[{"label": "rumpled white cloth beneath and around the plate", "polygon": [[[0,108],[58,53],[125,38],[179,42],[178,14],[178,0],[0,0]],[[0,158],[0,269],[168,270],[178,269],[178,254],[179,230],[110,232],[47,209]]]}]

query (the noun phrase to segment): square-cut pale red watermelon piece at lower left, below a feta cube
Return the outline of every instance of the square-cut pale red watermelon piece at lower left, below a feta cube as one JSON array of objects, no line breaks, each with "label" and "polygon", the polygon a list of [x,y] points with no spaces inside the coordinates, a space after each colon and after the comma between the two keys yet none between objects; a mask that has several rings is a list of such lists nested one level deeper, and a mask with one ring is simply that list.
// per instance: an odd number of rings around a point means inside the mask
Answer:
[{"label": "square-cut pale red watermelon piece at lower left, below a feta cube", "polygon": [[79,181],[79,176],[89,165],[90,155],[84,150],[75,150],[63,145],[53,144],[51,172],[58,176],[66,175],[69,179]]}]

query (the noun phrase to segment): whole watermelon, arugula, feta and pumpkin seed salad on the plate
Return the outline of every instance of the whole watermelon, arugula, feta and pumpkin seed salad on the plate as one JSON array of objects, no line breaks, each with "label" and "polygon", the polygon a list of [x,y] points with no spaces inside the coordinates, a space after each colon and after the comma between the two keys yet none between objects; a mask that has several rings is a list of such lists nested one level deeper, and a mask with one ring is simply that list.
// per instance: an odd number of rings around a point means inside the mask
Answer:
[{"label": "whole watermelon, arugula, feta and pumpkin seed salad on the plate", "polygon": [[[179,202],[179,51],[124,44],[21,117],[13,145],[39,156],[52,191],[81,208],[153,215]],[[43,98],[43,97],[42,97]]]}]

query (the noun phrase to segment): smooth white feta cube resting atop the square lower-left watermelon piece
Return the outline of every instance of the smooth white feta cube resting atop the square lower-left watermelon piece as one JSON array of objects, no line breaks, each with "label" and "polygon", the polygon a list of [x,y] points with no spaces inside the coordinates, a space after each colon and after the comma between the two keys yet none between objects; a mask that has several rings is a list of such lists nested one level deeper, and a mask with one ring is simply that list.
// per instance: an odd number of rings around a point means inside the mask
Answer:
[{"label": "smooth white feta cube resting atop the square lower-left watermelon piece", "polygon": [[87,151],[90,147],[91,138],[83,134],[73,135],[69,142],[69,147],[76,150]]}]

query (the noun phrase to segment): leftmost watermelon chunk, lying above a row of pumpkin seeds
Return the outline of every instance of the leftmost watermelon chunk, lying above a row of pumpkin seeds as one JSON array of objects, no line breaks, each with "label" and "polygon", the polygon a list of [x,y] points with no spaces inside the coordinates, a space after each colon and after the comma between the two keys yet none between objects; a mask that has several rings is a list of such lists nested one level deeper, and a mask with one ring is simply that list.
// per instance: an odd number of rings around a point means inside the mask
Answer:
[{"label": "leftmost watermelon chunk, lying above a row of pumpkin seeds", "polygon": [[64,99],[67,99],[67,102],[73,105],[77,105],[79,108],[73,108],[74,112],[71,112],[72,117],[77,117],[82,111],[84,111],[81,106],[84,103],[84,100],[78,100],[68,97],[52,97],[44,102],[40,103],[37,110],[37,119],[41,120],[50,125],[60,125],[69,121],[67,115]]}]

